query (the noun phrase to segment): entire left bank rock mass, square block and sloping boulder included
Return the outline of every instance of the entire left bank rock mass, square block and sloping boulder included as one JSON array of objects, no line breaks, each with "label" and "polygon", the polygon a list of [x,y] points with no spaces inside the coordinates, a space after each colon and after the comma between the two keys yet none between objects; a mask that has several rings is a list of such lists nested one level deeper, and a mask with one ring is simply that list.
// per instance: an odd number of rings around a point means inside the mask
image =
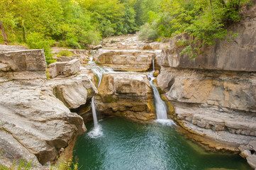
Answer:
[{"label": "entire left bank rock mass, square block and sloping boulder included", "polygon": [[0,164],[11,167],[23,159],[43,169],[86,131],[81,116],[69,108],[87,103],[96,87],[84,74],[46,81],[43,50],[0,55],[11,68],[0,72]]}]

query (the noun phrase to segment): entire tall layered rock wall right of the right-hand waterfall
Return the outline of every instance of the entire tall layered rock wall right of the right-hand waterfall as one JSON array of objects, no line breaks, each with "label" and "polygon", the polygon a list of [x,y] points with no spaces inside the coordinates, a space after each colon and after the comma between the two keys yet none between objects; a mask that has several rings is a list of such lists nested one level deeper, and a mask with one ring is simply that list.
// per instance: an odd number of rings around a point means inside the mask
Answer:
[{"label": "entire tall layered rock wall right of the right-hand waterfall", "polygon": [[[198,57],[180,55],[179,35],[158,58],[157,84],[187,130],[233,146],[256,139],[255,10],[229,30],[231,40],[204,46]],[[214,147],[214,146],[213,146]],[[218,148],[218,149],[221,149]],[[227,148],[226,148],[227,149]]]}]

